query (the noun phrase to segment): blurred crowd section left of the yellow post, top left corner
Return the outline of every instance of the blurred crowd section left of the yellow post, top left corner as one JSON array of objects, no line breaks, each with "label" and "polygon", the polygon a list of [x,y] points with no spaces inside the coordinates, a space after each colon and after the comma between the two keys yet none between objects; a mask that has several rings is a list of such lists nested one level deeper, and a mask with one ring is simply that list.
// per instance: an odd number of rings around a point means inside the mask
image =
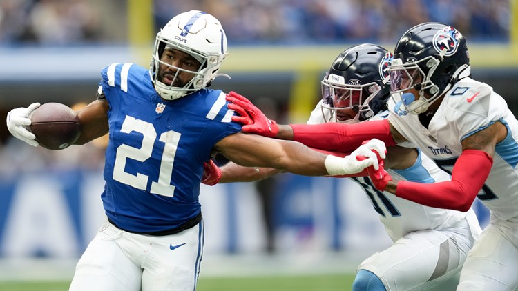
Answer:
[{"label": "blurred crowd section left of the yellow post, top left corner", "polygon": [[117,23],[126,19],[125,4],[125,0],[2,0],[0,44],[66,46],[125,41],[125,26]]}]

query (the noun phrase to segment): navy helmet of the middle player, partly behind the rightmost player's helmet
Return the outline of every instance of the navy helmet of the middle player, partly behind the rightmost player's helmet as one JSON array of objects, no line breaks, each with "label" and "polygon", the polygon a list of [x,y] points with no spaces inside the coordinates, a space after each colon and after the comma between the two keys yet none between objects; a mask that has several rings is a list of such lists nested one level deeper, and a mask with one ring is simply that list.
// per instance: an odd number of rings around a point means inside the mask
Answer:
[{"label": "navy helmet of the middle player, partly behind the rightmost player's helmet", "polygon": [[[390,97],[390,88],[383,81],[388,79],[391,61],[391,52],[369,43],[341,52],[321,81],[325,121],[355,123],[383,110]],[[341,120],[340,111],[348,109],[354,115],[348,114],[347,120]]]}]

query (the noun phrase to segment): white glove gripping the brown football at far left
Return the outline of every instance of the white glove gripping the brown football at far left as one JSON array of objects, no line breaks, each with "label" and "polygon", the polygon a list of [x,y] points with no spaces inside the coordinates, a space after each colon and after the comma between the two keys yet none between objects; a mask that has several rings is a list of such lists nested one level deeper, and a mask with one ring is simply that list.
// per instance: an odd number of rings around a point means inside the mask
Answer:
[{"label": "white glove gripping the brown football at far left", "polygon": [[19,107],[11,110],[7,114],[7,129],[13,137],[25,141],[32,146],[38,146],[39,143],[35,140],[36,136],[27,130],[26,126],[30,126],[32,121],[29,119],[29,114],[39,107],[39,103],[32,103],[28,108]]}]

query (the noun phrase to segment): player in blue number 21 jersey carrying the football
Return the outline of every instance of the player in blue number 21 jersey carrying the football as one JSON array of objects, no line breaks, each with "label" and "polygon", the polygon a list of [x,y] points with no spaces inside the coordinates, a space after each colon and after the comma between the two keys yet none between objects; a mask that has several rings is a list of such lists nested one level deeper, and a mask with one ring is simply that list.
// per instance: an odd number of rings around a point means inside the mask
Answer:
[{"label": "player in blue number 21 jersey carrying the football", "polygon": [[[207,88],[226,56],[218,19],[193,10],[157,33],[151,68],[113,63],[102,70],[97,100],[79,112],[76,144],[109,133],[107,219],[79,259],[70,290],[195,290],[204,243],[200,181],[216,153],[240,165],[304,175],[378,168],[373,150],[385,157],[385,145],[377,140],[340,158],[242,133],[231,121],[227,95]],[[38,106],[7,117],[10,132],[31,145],[38,143],[25,126]]]}]

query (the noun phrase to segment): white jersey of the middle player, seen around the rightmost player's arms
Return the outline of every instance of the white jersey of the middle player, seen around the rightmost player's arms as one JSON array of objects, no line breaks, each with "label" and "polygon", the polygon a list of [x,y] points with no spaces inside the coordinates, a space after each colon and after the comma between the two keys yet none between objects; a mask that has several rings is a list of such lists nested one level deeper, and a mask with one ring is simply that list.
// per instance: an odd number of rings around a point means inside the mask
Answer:
[{"label": "white jersey of the middle player, seen around the rightmost player's arms", "polygon": [[[326,120],[329,120],[329,110],[321,110],[321,103],[322,101],[311,112],[307,124],[324,123],[323,114],[326,115]],[[387,111],[379,112],[376,117],[372,117],[370,120],[384,119],[387,116]],[[440,170],[429,157],[421,154],[421,152],[419,152],[419,158],[412,167],[405,170],[387,169],[387,172],[395,179],[420,183],[450,180],[450,174]],[[468,212],[431,208],[396,197],[389,192],[381,192],[374,187],[369,177],[354,177],[352,179],[365,190],[365,194],[372,202],[374,210],[378,212],[379,219],[385,225],[385,230],[392,241],[397,241],[406,234],[419,230],[451,228],[468,214]],[[473,210],[470,209],[469,212],[473,212]]]}]

